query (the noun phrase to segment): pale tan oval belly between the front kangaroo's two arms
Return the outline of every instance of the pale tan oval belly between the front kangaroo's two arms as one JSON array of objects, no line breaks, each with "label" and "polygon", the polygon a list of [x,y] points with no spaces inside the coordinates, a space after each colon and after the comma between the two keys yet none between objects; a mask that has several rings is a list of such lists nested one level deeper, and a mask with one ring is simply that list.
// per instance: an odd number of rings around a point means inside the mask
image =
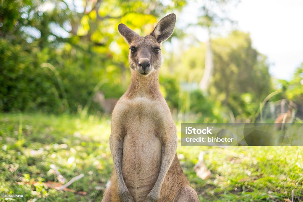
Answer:
[{"label": "pale tan oval belly between the front kangaroo's two arms", "polygon": [[128,117],[123,142],[122,175],[135,201],[144,201],[160,171],[161,141],[148,111],[134,112]]}]

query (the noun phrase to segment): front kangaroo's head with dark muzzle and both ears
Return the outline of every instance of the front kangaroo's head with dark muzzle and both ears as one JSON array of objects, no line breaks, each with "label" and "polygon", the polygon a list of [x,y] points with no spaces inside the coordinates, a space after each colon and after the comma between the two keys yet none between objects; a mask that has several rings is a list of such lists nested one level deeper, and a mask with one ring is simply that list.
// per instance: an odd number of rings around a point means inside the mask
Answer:
[{"label": "front kangaroo's head with dark muzzle and both ears", "polygon": [[176,15],[162,18],[151,34],[142,37],[124,24],[118,25],[120,34],[129,45],[129,66],[139,75],[147,76],[161,66],[161,42],[174,31]]}]

